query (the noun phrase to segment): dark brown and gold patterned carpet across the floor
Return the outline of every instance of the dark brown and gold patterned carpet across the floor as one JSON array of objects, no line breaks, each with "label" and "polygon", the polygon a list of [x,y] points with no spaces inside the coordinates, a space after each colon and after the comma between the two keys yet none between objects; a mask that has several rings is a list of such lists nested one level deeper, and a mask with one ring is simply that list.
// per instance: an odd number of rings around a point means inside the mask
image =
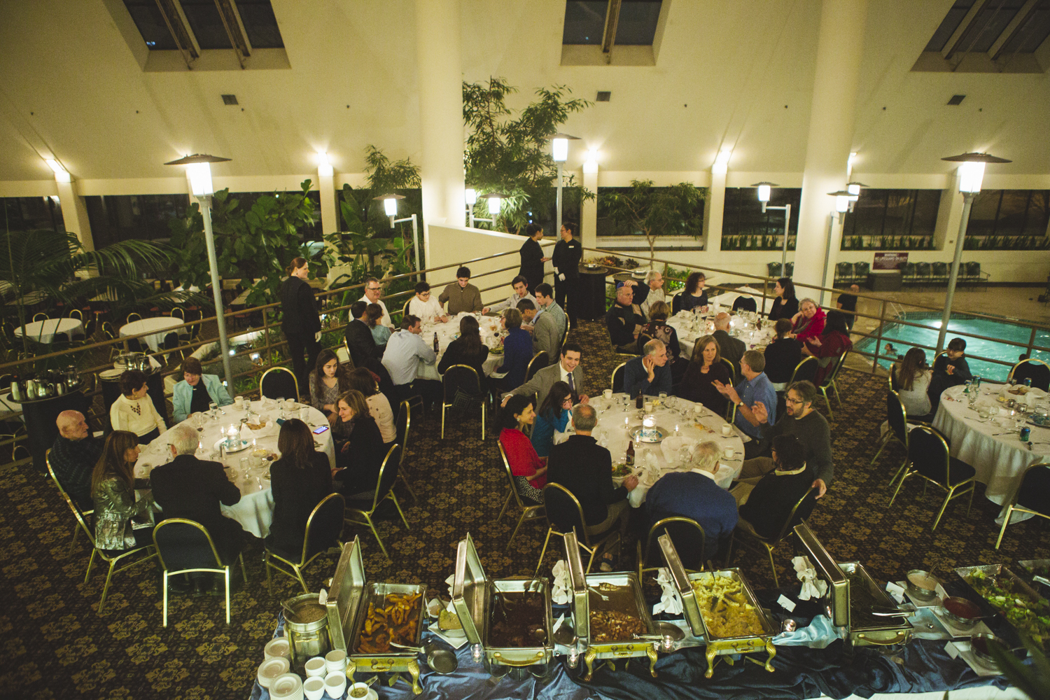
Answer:
[{"label": "dark brown and gold patterned carpet across the floor", "polygon": [[[606,338],[600,323],[583,322],[572,332],[572,339],[585,348],[583,364],[592,390],[608,386],[618,362],[607,349]],[[923,497],[922,489],[909,483],[888,508],[885,486],[902,460],[901,449],[889,449],[868,467],[884,418],[885,380],[846,370],[840,389],[846,405],[836,408],[832,423],[836,482],[811,519],[833,555],[867,564],[880,580],[912,568],[946,572],[954,566],[1050,556],[1042,521],[1012,526],[1002,550],[994,550],[999,507],[983,497],[980,485],[970,515],[965,514],[965,499],[956,501],[933,533],[929,525],[941,503],[934,490]],[[399,492],[412,529],[392,517],[379,526],[393,561],[383,557],[371,533],[345,533],[360,535],[370,578],[421,581],[444,594],[455,545],[467,532],[489,575],[527,574],[536,567],[545,526],[523,526],[507,551],[513,521],[496,521],[506,493],[496,442],[491,437],[480,440],[476,416],[452,423],[445,440],[440,439],[436,413],[413,424],[407,464],[419,501]],[[105,570],[97,565],[90,581],[83,582],[89,551],[81,537],[67,556],[72,517],[51,483],[28,464],[0,466],[0,634],[5,658],[0,697],[248,697],[279,600],[297,593],[297,585],[285,576],[267,587],[259,540],[245,554],[249,582],[233,596],[230,625],[224,622],[220,598],[175,596],[169,627],[162,628],[159,576],[152,565],[117,575],[99,614]],[[790,550],[784,545],[777,554],[782,582],[788,580]],[[308,584],[318,588],[334,565],[334,557],[315,563]],[[741,567],[756,588],[773,585],[764,555],[744,550],[734,566]]]}]

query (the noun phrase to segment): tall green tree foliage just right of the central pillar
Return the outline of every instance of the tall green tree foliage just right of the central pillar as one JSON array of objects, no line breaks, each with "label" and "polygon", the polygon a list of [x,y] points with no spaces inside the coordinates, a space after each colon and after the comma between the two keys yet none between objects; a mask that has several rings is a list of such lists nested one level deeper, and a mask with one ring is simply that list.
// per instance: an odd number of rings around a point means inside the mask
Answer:
[{"label": "tall green tree foliage just right of the central pillar", "polygon": [[[479,194],[505,195],[498,221],[508,232],[517,232],[528,222],[530,209],[545,209],[553,203],[558,166],[548,140],[569,114],[591,106],[586,100],[566,99],[572,90],[564,85],[541,87],[536,91],[538,100],[516,119],[506,98],[517,91],[502,78],[489,78],[487,85],[463,83],[463,122],[469,131],[463,156],[467,187]],[[578,190],[571,196],[594,197],[578,187],[572,176],[567,182],[569,188]],[[478,199],[476,216],[489,217],[485,201]]]}]

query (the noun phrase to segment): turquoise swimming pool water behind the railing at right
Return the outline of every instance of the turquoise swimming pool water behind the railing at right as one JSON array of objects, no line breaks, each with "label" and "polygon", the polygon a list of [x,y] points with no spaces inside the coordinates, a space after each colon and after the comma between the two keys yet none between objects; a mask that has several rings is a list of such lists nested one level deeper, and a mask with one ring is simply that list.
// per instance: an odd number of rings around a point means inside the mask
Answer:
[{"label": "turquoise swimming pool water behind the railing at right", "polygon": [[[914,323],[928,323],[929,325],[937,326],[940,326],[941,323],[941,316],[939,314],[928,312],[905,312],[898,318],[911,321]],[[1000,338],[1002,340],[1010,340],[1027,345],[1032,330],[1028,326],[1017,325],[1007,321],[992,321],[987,318],[953,315],[951,317],[951,321],[948,323],[948,335],[945,338],[946,344],[952,339],[953,333],[973,333],[979,336]],[[931,347],[936,347],[938,334],[938,327],[918,328],[912,325],[886,323],[882,330],[882,354],[887,354],[885,349],[886,343],[892,344],[894,348],[897,351],[897,355],[904,355],[914,345],[929,345]],[[966,337],[963,339],[966,341],[966,361],[970,365],[970,372],[974,375],[980,375],[981,377],[998,381],[1006,381],[1006,376],[1010,372],[1010,366],[1012,366],[1012,363],[1016,362],[1021,355],[1023,355],[1026,351],[1026,347],[1024,346],[1018,347],[1016,345],[1008,345],[1006,343],[993,342],[990,340]],[[1050,347],[1050,332],[1036,331],[1035,344],[1044,347]],[[855,345],[855,347],[858,351],[874,354],[875,345],[875,338],[863,338]],[[995,364],[994,362],[976,360],[973,356],[995,358],[996,360],[1003,360],[1004,362],[1010,362],[1011,364]],[[1032,357],[1045,362],[1050,362],[1050,353],[1033,351]],[[932,364],[933,351],[926,351],[926,361]],[[889,369],[889,365],[892,364],[892,362],[887,359],[880,359],[879,364],[886,369]]]}]

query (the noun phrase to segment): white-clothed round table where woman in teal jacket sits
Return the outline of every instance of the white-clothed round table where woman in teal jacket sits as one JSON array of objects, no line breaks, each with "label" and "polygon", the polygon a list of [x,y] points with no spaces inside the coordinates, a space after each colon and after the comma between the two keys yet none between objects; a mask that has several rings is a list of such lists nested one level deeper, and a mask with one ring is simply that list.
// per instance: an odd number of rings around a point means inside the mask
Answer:
[{"label": "white-clothed round table where woman in teal jacket sits", "polygon": [[[273,400],[252,401],[250,405],[260,418],[267,419],[267,424],[260,430],[243,428],[245,438],[255,439],[255,449],[265,448],[279,455],[277,436],[280,432],[280,426],[277,425],[276,420],[280,418],[280,409],[277,408],[276,402]],[[286,416],[299,418],[299,411],[303,408],[307,411],[307,423],[311,427],[328,425],[328,419],[324,418],[323,413],[304,404],[295,404],[294,411],[286,411]],[[271,463],[264,462],[261,468],[250,467],[247,471],[242,469],[242,458],[251,460],[253,449],[251,446],[239,452],[231,452],[226,455],[225,460],[219,460],[218,449],[214,445],[222,440],[223,430],[228,429],[231,423],[240,425],[240,419],[248,412],[246,409],[238,409],[235,405],[224,406],[222,410],[226,411],[226,415],[216,411],[215,418],[209,418],[208,413],[204,413],[204,431],[197,433],[201,437],[202,447],[197,449],[196,455],[202,460],[224,462],[227,476],[240,489],[240,501],[232,506],[223,506],[223,514],[239,523],[246,532],[250,532],[256,537],[266,537],[270,534],[270,523],[273,522],[273,491],[270,489]],[[192,417],[178,425],[190,425],[195,428]],[[153,467],[171,461],[171,451],[167,444],[171,428],[161,433],[160,438],[142,451],[135,463],[135,476],[148,478]],[[319,436],[315,434],[314,443],[316,449],[328,455],[329,464],[335,467],[335,443],[332,441],[332,431],[326,430]]]}]

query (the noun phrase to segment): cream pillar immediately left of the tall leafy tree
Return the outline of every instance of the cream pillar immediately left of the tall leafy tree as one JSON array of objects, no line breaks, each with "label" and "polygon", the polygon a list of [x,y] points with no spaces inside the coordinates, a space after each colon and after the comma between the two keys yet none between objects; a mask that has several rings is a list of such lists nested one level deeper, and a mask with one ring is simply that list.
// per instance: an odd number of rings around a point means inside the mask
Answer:
[{"label": "cream pillar immediately left of the tall leafy tree", "polygon": [[[416,0],[424,224],[463,226],[463,70],[459,0]],[[430,237],[423,250],[430,259]]]}]

